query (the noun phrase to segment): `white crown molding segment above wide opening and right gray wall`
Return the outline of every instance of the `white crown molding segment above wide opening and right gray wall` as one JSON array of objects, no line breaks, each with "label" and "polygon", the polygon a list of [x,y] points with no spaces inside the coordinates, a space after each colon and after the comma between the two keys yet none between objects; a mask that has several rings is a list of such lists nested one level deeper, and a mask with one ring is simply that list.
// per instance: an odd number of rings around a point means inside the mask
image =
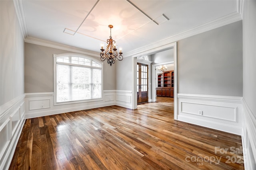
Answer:
[{"label": "white crown molding segment above wide opening and right gray wall", "polygon": [[[193,35],[197,35],[199,33],[203,33],[206,31],[210,31],[212,29],[218,28],[218,27],[222,27],[224,25],[228,25],[230,23],[234,23],[236,21],[240,21],[242,20],[242,16],[240,14],[241,9],[240,6],[242,5],[240,3],[240,0],[236,0],[236,12],[233,12],[231,14],[228,14],[226,16],[217,18],[215,20],[206,22],[206,23],[202,23],[201,25],[192,27],[190,29],[187,29],[185,31],[176,33],[174,35],[171,35],[170,37],[167,37],[165,39],[156,41],[152,44],[146,45],[144,47],[140,47],[138,49],[135,49],[133,51],[130,51],[128,53],[126,53],[126,57],[128,56],[139,56],[139,55],[145,55],[147,53],[151,53],[151,51],[156,51],[156,50],[161,50],[164,49],[164,47],[168,47],[168,44],[173,43],[175,41],[179,41],[181,39],[184,38],[188,38],[191,37]],[[238,10],[238,11],[237,11]]]}]

